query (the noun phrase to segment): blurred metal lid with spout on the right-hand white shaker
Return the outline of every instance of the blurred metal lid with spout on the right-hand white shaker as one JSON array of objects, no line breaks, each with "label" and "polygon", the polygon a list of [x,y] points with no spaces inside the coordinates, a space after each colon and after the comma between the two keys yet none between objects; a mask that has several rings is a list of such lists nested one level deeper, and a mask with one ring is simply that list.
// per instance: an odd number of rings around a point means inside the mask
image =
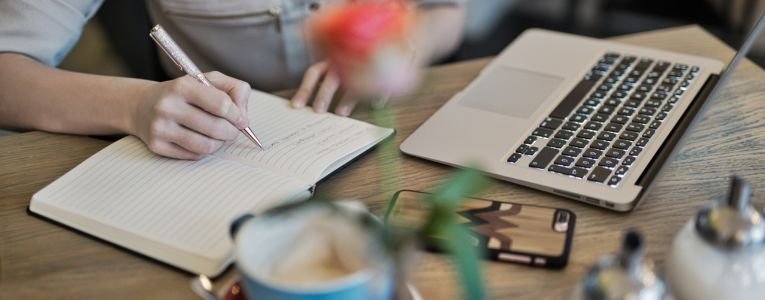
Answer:
[{"label": "blurred metal lid with spout on the right-hand white shaker", "polygon": [[715,247],[736,250],[765,245],[765,220],[750,205],[752,187],[732,176],[728,199],[699,211],[696,232]]}]

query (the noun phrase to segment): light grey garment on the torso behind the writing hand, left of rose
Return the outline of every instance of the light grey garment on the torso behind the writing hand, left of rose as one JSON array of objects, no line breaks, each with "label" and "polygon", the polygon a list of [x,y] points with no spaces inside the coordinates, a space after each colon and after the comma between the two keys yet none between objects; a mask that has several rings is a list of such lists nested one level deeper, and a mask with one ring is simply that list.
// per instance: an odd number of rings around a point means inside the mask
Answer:
[{"label": "light grey garment on the torso behind the writing hand, left of rose", "polygon": [[[343,0],[148,0],[161,24],[202,71],[221,71],[253,88],[295,88],[318,57],[306,41],[305,21]],[[165,55],[171,76],[182,73]]]}]

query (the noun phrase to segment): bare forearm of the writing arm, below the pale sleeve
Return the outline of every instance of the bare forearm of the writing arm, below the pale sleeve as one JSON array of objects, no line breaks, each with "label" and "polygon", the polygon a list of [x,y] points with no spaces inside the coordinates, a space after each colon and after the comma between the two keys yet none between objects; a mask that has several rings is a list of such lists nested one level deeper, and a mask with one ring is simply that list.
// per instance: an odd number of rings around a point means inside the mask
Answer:
[{"label": "bare forearm of the writing arm, below the pale sleeve", "polygon": [[72,134],[131,133],[151,81],[74,73],[0,53],[0,127]]}]

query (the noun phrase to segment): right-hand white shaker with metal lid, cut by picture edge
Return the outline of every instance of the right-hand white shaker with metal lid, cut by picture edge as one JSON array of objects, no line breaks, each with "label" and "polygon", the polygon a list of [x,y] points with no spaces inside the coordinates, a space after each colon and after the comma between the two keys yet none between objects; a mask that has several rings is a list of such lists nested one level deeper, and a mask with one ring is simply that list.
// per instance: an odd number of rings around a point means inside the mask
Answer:
[{"label": "right-hand white shaker with metal lid, cut by picture edge", "polygon": [[765,221],[751,196],[734,176],[728,198],[677,234],[665,270],[677,299],[765,299]]}]

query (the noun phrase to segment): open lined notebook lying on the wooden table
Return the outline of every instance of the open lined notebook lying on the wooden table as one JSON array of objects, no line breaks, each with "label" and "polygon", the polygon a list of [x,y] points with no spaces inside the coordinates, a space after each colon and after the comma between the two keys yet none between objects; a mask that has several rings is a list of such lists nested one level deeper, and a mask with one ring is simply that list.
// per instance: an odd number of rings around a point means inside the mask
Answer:
[{"label": "open lined notebook lying on the wooden table", "polygon": [[317,181],[393,133],[350,118],[293,109],[253,91],[250,120],[268,150],[244,136],[199,161],[159,157],[123,138],[34,196],[30,211],[190,272],[232,261],[229,223],[310,195]]}]

